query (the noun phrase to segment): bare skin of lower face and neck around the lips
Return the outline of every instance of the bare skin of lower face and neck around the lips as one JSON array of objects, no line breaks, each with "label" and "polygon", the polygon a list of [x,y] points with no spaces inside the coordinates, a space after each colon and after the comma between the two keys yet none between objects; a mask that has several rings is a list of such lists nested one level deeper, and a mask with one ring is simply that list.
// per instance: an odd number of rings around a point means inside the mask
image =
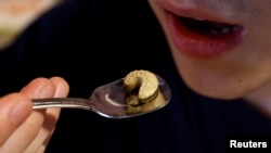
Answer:
[{"label": "bare skin of lower face and neck around the lips", "polygon": [[[245,28],[241,43],[219,58],[206,60],[181,53],[170,39],[160,3],[199,8],[211,20]],[[271,112],[271,2],[268,0],[149,0],[168,39],[180,76],[199,94],[217,99],[244,98]],[[189,10],[189,9],[188,9]],[[170,11],[170,10],[168,10]],[[210,16],[208,16],[210,17]],[[264,109],[266,107],[266,109]],[[271,115],[270,115],[271,116]]]}]

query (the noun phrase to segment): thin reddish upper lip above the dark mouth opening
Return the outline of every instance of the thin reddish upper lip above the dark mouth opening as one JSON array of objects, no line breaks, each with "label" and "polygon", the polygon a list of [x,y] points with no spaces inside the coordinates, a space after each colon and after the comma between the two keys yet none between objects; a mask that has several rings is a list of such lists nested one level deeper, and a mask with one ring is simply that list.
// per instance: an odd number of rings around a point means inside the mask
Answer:
[{"label": "thin reddish upper lip above the dark mouth opening", "polygon": [[[211,10],[197,7],[196,4],[176,4],[178,2],[172,2],[169,0],[157,0],[159,7],[162,7],[167,12],[171,12],[175,15],[190,17],[195,20],[206,20],[216,23],[227,23],[234,24],[237,23],[229,20],[227,16],[221,16],[218,13],[214,13]],[[186,2],[189,3],[189,2]]]}]

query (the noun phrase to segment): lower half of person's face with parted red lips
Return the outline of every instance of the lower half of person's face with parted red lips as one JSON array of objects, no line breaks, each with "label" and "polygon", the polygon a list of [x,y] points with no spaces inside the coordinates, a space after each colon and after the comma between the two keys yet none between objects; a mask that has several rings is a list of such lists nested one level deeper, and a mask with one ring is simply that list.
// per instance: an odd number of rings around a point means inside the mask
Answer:
[{"label": "lower half of person's face with parted red lips", "polygon": [[194,91],[243,98],[271,79],[271,1],[149,0]]}]

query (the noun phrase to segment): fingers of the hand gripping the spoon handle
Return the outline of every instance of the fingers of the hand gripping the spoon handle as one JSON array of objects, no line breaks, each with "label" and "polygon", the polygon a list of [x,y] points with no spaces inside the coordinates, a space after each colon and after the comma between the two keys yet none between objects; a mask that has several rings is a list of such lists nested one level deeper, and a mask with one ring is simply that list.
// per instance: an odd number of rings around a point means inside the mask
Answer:
[{"label": "fingers of the hand gripping the spoon handle", "polygon": [[61,77],[36,78],[20,92],[2,97],[0,152],[44,152],[61,110],[34,111],[30,99],[66,97],[68,90],[67,82]]}]

